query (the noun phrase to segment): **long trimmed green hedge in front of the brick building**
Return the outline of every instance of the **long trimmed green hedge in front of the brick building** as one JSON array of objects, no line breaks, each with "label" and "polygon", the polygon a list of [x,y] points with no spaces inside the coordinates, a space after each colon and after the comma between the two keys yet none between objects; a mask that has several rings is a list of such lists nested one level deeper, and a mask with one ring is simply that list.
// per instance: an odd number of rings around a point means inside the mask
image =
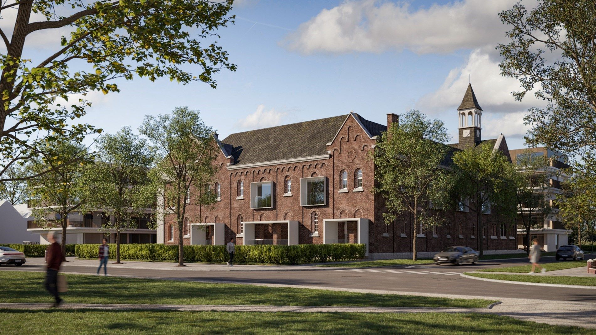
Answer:
[{"label": "long trimmed green hedge in front of the brick building", "polygon": [[[115,258],[116,245],[110,244],[111,258]],[[97,258],[98,245],[76,245],[78,258]],[[330,245],[237,245],[234,261],[238,263],[308,264],[329,261],[362,259],[364,244]],[[120,258],[144,261],[178,261],[177,245],[122,244]],[[186,245],[185,262],[225,262],[228,252],[224,245]]]}]

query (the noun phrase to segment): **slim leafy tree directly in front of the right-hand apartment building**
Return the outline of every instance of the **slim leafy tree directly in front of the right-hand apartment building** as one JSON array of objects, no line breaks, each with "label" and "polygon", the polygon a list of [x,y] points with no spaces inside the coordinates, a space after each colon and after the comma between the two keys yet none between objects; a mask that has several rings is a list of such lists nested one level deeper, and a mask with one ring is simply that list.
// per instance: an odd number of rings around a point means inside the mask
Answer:
[{"label": "slim leafy tree directly in front of the right-hand apartment building", "polygon": [[532,228],[543,228],[544,218],[552,212],[548,160],[545,156],[533,156],[527,151],[517,156],[517,211],[521,226],[526,230],[524,248],[530,253]]}]

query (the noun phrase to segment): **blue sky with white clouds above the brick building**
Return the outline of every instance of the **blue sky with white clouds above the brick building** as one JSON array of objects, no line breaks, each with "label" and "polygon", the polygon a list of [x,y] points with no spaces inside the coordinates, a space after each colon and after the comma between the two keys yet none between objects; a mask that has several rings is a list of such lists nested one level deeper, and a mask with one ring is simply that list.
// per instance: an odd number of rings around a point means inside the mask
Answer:
[{"label": "blue sky with white clouds above the brick building", "polygon": [[[516,80],[498,73],[496,43],[507,30],[496,13],[511,0],[238,1],[235,24],[219,44],[238,65],[215,75],[218,88],[169,79],[118,82],[122,92],[90,93],[83,121],[113,133],[136,130],[145,114],[178,106],[200,109],[223,139],[230,133],[358,112],[420,109],[457,132],[457,108],[468,74],[483,112],[483,138],[499,133],[522,148],[523,113]],[[454,141],[457,139],[454,139]]]}]

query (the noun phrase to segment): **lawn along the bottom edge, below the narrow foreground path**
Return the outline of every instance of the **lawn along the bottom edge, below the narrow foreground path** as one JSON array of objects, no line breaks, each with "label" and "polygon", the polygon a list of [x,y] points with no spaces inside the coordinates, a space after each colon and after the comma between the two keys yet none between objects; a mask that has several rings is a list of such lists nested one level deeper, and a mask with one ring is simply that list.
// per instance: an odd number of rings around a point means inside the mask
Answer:
[{"label": "lawn along the bottom edge, below the narrow foreground path", "polygon": [[4,311],[0,334],[593,334],[492,314]]}]

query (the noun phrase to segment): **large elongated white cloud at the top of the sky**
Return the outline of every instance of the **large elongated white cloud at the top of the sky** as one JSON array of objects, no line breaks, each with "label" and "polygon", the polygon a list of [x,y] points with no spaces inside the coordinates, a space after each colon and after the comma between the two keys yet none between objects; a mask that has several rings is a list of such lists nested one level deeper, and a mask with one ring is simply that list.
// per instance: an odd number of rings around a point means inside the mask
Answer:
[{"label": "large elongated white cloud at the top of the sky", "polygon": [[347,0],[322,10],[281,43],[304,54],[387,49],[429,54],[477,48],[505,38],[507,27],[497,13],[516,1],[465,0],[411,11],[406,2]]}]

